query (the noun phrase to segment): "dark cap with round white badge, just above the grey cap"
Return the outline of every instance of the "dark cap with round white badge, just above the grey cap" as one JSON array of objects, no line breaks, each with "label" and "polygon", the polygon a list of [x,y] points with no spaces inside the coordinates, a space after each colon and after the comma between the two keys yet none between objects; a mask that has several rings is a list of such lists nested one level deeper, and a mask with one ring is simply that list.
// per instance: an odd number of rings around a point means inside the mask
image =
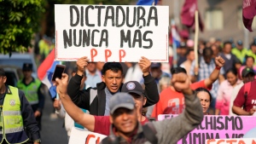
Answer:
[{"label": "dark cap with round white badge, just above the grey cap", "polygon": [[143,87],[137,81],[129,81],[122,86],[122,92],[135,93],[137,95],[143,95]]}]

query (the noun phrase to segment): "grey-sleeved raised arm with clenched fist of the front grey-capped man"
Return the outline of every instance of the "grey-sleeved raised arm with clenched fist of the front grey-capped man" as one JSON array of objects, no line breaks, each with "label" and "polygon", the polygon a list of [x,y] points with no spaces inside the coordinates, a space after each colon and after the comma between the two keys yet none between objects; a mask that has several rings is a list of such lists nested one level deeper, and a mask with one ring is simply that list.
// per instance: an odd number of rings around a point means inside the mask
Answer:
[{"label": "grey-sleeved raised arm with clenched fist of the front grey-capped man", "polygon": [[178,73],[172,75],[172,85],[175,89],[182,89],[185,97],[185,109],[175,118],[153,122],[158,131],[159,143],[177,143],[184,135],[194,130],[203,120],[201,103],[195,91],[190,89],[190,80],[187,74]]}]

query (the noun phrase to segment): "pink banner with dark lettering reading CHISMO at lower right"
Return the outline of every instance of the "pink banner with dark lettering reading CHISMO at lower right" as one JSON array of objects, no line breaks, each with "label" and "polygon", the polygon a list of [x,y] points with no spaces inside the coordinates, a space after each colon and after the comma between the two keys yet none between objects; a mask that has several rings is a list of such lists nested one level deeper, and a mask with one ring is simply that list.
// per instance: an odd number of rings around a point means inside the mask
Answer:
[{"label": "pink banner with dark lettering reading CHISMO at lower right", "polygon": [[[159,115],[158,120],[173,117],[177,115]],[[195,130],[177,143],[205,144],[207,139],[256,138],[255,122],[253,116],[205,116]]]}]

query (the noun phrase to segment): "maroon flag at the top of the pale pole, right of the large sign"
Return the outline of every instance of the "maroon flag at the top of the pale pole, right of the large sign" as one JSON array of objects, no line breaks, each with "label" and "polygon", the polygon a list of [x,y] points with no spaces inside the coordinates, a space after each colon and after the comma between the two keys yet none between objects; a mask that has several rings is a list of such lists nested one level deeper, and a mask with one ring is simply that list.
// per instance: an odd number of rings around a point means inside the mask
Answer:
[{"label": "maroon flag at the top of the pale pole, right of the large sign", "polygon": [[[182,9],[182,23],[185,26],[194,27],[195,28],[195,10],[198,11],[198,6],[197,6],[197,0],[186,0],[185,3],[183,4],[183,9]],[[199,27],[201,31],[203,31],[203,23],[201,21],[201,16],[198,12],[198,18],[199,18]]]}]

